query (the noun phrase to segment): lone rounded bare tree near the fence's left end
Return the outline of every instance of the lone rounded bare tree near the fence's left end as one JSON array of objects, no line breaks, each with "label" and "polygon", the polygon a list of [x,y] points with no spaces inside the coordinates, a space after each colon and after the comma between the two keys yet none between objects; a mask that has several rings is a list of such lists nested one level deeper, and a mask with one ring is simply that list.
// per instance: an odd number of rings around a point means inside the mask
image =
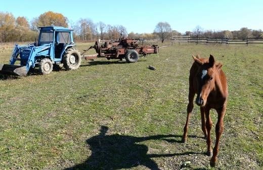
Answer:
[{"label": "lone rounded bare tree near the fence's left end", "polygon": [[168,22],[159,22],[154,29],[154,32],[159,35],[159,37],[162,40],[162,43],[164,39],[166,39],[168,36],[170,36],[171,32],[171,26]]}]

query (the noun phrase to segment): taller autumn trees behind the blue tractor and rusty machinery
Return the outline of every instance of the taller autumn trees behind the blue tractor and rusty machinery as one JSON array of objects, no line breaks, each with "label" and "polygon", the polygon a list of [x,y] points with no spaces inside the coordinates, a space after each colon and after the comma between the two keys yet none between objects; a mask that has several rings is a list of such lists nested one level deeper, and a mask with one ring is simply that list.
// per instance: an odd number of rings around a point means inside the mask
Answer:
[{"label": "taller autumn trees behind the blue tractor and rusty machinery", "polygon": [[70,23],[67,17],[52,11],[41,14],[29,22],[25,17],[15,18],[12,13],[0,12],[0,42],[33,41],[37,37],[37,28],[41,26],[63,26],[74,30],[74,39],[88,41],[94,39],[118,39],[127,36],[122,25],[94,23],[91,19],[79,19]]}]

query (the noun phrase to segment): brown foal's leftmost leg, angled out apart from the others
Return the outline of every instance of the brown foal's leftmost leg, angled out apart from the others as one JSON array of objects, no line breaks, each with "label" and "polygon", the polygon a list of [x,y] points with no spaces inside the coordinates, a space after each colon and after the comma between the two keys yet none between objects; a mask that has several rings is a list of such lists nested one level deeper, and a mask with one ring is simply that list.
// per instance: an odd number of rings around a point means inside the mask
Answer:
[{"label": "brown foal's leftmost leg, angled out apart from the others", "polygon": [[189,124],[189,121],[190,121],[190,116],[191,116],[192,110],[194,108],[194,97],[195,97],[194,91],[189,89],[189,95],[188,95],[189,103],[187,105],[187,118],[186,118],[186,124],[185,124],[185,127],[184,127],[184,135],[183,135],[183,138],[182,138],[182,142],[183,143],[186,143],[186,141],[187,141],[188,124]]}]

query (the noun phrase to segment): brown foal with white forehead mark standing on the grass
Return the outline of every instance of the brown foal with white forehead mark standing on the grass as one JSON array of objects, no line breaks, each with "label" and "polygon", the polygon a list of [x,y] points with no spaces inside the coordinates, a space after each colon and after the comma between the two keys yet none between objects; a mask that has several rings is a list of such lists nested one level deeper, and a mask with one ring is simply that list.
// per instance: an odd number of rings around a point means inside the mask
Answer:
[{"label": "brown foal with white forehead mark standing on the grass", "polygon": [[[193,58],[195,62],[190,69],[189,103],[187,106],[187,119],[182,141],[186,142],[187,140],[188,122],[194,107],[194,96],[197,94],[195,103],[200,106],[202,131],[207,143],[207,155],[210,156],[213,154],[210,159],[210,165],[215,166],[218,144],[224,128],[223,119],[227,107],[227,78],[221,69],[222,64],[215,63],[212,55],[210,55],[209,60],[199,58],[199,56],[193,56]],[[215,109],[218,114],[215,126],[216,140],[213,152],[210,139],[210,130],[212,128],[212,121],[209,113],[210,109]]]}]

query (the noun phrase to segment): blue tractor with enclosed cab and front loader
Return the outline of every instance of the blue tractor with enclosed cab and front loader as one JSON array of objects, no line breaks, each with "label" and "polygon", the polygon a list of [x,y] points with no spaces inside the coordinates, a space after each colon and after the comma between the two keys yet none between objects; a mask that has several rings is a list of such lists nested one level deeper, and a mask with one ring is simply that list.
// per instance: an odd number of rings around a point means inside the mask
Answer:
[{"label": "blue tractor with enclosed cab and front loader", "polygon": [[[74,48],[73,30],[58,26],[39,27],[38,42],[15,45],[9,64],[0,64],[0,73],[26,76],[32,68],[41,74],[49,74],[63,64],[66,70],[77,69],[81,56]],[[20,65],[15,65],[20,61]]]}]

